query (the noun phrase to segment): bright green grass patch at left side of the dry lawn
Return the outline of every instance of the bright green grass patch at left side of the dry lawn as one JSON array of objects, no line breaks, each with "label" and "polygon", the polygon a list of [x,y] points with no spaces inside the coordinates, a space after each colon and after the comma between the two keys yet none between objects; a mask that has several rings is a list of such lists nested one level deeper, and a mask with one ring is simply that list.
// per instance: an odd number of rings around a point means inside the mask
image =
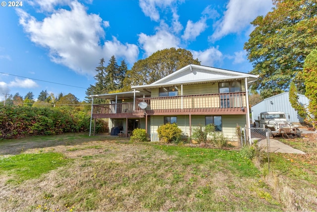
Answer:
[{"label": "bright green grass patch at left side of the dry lawn", "polygon": [[24,180],[38,178],[69,160],[61,153],[19,154],[0,158],[0,173],[6,172],[11,179],[8,182],[21,183]]}]

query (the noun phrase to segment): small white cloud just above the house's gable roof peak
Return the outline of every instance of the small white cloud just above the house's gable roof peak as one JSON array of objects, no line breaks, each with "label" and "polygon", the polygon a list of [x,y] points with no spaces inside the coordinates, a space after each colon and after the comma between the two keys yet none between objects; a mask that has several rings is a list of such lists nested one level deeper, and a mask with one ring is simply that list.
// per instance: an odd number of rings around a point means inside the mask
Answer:
[{"label": "small white cloud just above the house's gable roof peak", "polygon": [[215,47],[211,47],[204,51],[190,51],[193,54],[193,58],[198,58],[198,60],[201,61],[202,66],[213,67],[215,63],[221,63],[223,60],[222,53]]}]

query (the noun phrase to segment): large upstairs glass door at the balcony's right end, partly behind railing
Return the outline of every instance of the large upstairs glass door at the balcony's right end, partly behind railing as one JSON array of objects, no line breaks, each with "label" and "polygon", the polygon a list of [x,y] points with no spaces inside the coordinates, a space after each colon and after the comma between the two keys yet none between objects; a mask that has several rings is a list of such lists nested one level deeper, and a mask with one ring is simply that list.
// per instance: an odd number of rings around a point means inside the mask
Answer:
[{"label": "large upstairs glass door at the balcony's right end, partly behind railing", "polygon": [[[231,101],[234,101],[234,98],[237,97],[237,94],[226,94],[226,93],[234,93],[241,92],[241,81],[233,81],[233,82],[220,82],[219,83],[219,93],[220,94],[220,107],[221,108],[229,108],[233,106]],[[237,105],[236,105],[237,106]]]}]

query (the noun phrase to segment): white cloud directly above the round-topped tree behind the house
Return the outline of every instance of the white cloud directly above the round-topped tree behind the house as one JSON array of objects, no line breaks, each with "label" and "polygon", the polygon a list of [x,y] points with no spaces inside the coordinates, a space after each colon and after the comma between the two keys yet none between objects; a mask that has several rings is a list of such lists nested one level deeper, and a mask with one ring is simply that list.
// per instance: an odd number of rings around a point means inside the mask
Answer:
[{"label": "white cloud directly above the round-topped tree behind the house", "polygon": [[152,55],[158,50],[171,47],[178,48],[180,43],[179,38],[164,29],[159,29],[155,35],[146,35],[141,33],[138,36],[139,43],[145,51],[146,57]]}]

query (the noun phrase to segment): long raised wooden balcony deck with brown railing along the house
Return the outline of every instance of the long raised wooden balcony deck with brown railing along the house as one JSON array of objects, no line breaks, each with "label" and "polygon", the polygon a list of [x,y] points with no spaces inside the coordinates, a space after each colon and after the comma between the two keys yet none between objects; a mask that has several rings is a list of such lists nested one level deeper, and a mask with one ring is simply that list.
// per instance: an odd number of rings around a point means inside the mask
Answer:
[{"label": "long raised wooden balcony deck with brown railing along the house", "polygon": [[[146,102],[143,111],[138,104]],[[93,118],[141,118],[147,115],[246,114],[246,93],[217,93],[136,98],[133,102],[93,105]]]}]

